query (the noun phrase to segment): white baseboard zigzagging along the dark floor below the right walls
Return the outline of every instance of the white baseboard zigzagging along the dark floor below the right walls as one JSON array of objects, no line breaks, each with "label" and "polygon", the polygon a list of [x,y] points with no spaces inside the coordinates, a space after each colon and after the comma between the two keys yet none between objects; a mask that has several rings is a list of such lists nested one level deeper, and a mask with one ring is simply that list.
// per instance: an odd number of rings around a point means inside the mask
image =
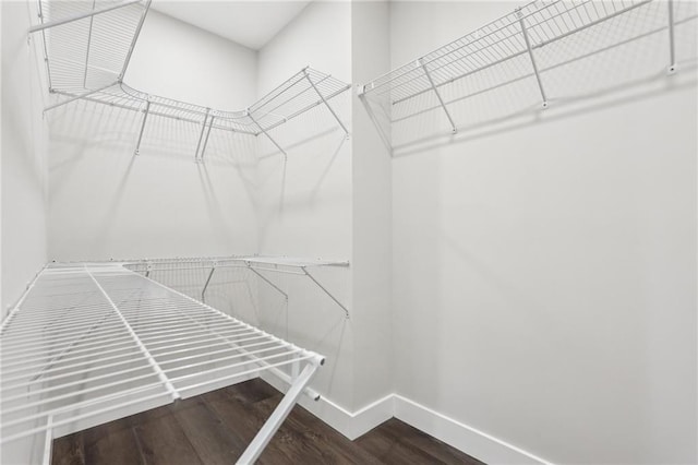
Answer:
[{"label": "white baseboard zigzagging along the dark floor below the right walls", "polygon": [[[262,379],[281,392],[288,389],[282,381],[266,372]],[[488,464],[553,465],[550,461],[398,394],[386,395],[353,413],[326,397],[315,402],[302,396],[299,404],[352,441],[396,417]]]}]

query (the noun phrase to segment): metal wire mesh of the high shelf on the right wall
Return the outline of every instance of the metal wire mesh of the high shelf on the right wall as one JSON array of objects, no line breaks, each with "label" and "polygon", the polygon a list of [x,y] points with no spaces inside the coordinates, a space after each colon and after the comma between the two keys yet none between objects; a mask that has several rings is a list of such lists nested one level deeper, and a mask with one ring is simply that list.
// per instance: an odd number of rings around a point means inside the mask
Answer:
[{"label": "metal wire mesh of the high shelf on the right wall", "polygon": [[537,0],[365,84],[363,96],[396,147],[445,122],[474,128],[695,62],[697,23],[691,1]]}]

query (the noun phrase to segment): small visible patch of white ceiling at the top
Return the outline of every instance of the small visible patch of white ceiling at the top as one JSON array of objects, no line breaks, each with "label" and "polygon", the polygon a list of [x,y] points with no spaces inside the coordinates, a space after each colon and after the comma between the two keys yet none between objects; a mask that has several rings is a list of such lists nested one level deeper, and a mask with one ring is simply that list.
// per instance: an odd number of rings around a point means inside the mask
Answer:
[{"label": "small visible patch of white ceiling at the top", "polygon": [[308,3],[310,0],[154,0],[151,8],[258,50],[290,23]]}]

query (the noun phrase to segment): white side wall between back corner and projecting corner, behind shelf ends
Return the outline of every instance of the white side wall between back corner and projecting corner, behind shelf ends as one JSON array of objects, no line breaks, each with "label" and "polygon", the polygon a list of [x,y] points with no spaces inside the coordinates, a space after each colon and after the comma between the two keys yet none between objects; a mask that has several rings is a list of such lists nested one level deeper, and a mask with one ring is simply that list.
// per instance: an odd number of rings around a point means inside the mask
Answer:
[{"label": "white side wall between back corner and projecting corner, behind shelf ends", "polygon": [[[258,55],[258,93],[266,94],[302,68],[351,81],[351,5],[312,2]],[[330,100],[351,131],[350,92]],[[292,119],[270,135],[285,157],[260,136],[260,253],[351,260],[352,139],[324,106]],[[352,311],[351,269],[311,269],[315,277]],[[288,295],[260,282],[263,327],[327,357],[313,388],[353,408],[354,332],[352,320],[303,276],[267,273]],[[317,407],[315,405],[314,407]],[[322,416],[323,414],[320,413]]]}]

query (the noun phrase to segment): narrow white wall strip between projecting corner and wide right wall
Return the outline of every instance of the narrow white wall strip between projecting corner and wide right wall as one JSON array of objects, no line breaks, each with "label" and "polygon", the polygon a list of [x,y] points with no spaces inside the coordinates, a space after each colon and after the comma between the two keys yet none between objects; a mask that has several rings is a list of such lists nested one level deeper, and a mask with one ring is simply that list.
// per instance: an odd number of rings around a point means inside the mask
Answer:
[{"label": "narrow white wall strip between projecting corner and wide right wall", "polygon": [[[351,5],[352,82],[389,69],[387,1]],[[392,164],[369,114],[352,94],[353,313],[357,365],[354,404],[363,407],[394,392],[392,275]]]}]

